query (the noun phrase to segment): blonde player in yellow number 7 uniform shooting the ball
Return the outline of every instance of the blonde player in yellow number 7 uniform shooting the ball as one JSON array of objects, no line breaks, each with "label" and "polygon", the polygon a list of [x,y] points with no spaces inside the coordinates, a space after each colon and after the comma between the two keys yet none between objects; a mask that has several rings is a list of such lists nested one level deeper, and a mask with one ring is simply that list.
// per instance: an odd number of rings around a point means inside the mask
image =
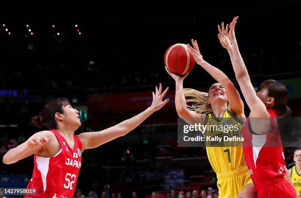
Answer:
[{"label": "blonde player in yellow number 7 uniform shooting the ball", "polygon": [[[178,76],[165,67],[167,73],[176,81],[175,103],[179,117],[189,124],[194,124],[194,118],[199,118],[199,123],[205,125],[237,125],[238,131],[236,132],[224,133],[206,130],[204,135],[241,137],[245,115],[239,92],[222,71],[203,59],[197,42],[192,40],[192,45],[194,49],[187,45],[189,53],[219,83],[211,85],[208,93],[195,89],[183,89],[183,80],[188,74]],[[190,99],[186,100],[185,96]],[[194,105],[187,106],[186,102],[192,102]],[[236,198],[238,195],[244,198],[256,197],[242,146],[223,146],[223,142],[220,144],[218,146],[214,141],[206,141],[208,159],[218,179],[219,196],[221,198]]]}]

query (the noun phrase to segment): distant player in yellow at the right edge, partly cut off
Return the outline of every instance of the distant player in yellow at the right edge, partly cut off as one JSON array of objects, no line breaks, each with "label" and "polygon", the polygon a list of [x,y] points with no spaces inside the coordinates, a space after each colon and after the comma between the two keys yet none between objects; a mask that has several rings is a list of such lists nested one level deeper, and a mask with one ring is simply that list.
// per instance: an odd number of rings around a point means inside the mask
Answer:
[{"label": "distant player in yellow at the right edge, partly cut off", "polygon": [[294,152],[294,161],[296,163],[285,176],[290,176],[297,190],[299,198],[301,198],[301,149],[297,149]]}]

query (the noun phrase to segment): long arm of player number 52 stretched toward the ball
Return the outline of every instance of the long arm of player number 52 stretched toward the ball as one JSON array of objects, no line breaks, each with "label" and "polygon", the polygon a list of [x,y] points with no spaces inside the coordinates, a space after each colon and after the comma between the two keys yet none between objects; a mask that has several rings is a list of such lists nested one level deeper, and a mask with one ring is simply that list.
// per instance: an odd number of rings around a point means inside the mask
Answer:
[{"label": "long arm of player number 52 stretched toward the ball", "polygon": [[126,135],[137,126],[139,126],[144,120],[146,120],[152,113],[161,109],[166,103],[168,103],[169,99],[162,101],[163,97],[167,93],[168,87],[161,93],[162,85],[159,85],[159,89],[156,87],[156,93],[152,92],[152,103],[151,106],[146,109],[144,112],[139,113],[138,115],[124,120],[119,124],[112,126],[103,131],[97,132],[87,132],[81,133],[78,135],[80,138],[83,150],[88,148],[95,148],[100,146],[108,141],[112,141],[116,138]]}]

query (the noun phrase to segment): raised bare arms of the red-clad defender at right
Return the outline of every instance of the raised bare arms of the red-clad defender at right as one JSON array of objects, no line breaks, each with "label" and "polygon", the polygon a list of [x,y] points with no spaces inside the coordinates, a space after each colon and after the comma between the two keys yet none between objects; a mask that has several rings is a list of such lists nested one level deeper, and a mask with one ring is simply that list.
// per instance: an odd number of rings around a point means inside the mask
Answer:
[{"label": "raised bare arms of the red-clad defender at right", "polygon": [[222,23],[222,28],[218,26],[218,38],[220,43],[229,52],[232,66],[235,72],[235,77],[241,87],[241,92],[246,100],[248,107],[251,110],[251,117],[270,117],[265,104],[257,97],[256,92],[251,83],[248,71],[241,57],[237,40],[235,37],[235,25],[237,23],[238,17],[235,17],[229,26],[229,34],[226,33],[224,29],[224,24]]}]

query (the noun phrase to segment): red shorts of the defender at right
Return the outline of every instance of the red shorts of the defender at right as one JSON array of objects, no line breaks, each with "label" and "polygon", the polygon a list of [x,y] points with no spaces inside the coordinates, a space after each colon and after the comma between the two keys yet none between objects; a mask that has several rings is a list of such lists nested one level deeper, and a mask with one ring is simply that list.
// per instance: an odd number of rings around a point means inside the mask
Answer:
[{"label": "red shorts of the defender at right", "polygon": [[265,181],[256,191],[258,198],[296,198],[294,187],[284,177]]}]

